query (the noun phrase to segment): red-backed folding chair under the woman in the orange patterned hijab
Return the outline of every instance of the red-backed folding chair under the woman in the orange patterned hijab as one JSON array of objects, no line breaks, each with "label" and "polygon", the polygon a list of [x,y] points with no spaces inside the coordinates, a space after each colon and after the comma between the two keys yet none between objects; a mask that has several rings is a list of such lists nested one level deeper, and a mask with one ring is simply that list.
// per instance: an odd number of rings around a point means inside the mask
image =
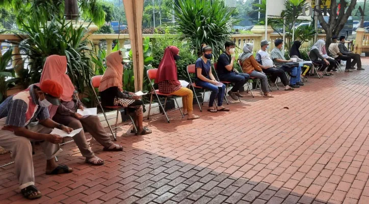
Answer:
[{"label": "red-backed folding chair under the woman in the orange patterned hijab", "polygon": [[[97,75],[95,77],[92,77],[91,78],[91,87],[92,87],[92,90],[93,90],[93,92],[95,94],[97,103],[98,103],[98,105],[99,105],[99,107],[100,107],[100,109],[102,111],[102,114],[104,115],[104,118],[105,118],[105,120],[108,123],[108,126],[109,126],[109,129],[111,131],[111,134],[114,137],[114,141],[117,141],[117,129],[120,127],[120,126],[117,126],[118,125],[118,115],[119,115],[119,112],[121,112],[122,114],[124,112],[126,114],[127,113],[127,110],[126,110],[126,108],[123,108],[121,106],[105,106],[105,107],[103,107],[101,105],[100,99],[97,96],[97,93],[96,93],[96,90],[95,90],[96,88],[99,88],[101,78],[102,78],[102,75]],[[117,115],[115,117],[108,118],[107,117],[107,114],[105,113],[105,110],[116,111],[117,112]],[[135,132],[137,133],[137,127],[136,127],[135,121],[133,120],[133,118],[129,114],[127,114],[127,115],[129,116],[129,119],[130,119],[130,121],[132,122],[132,124],[134,126]],[[109,123],[109,120],[110,119],[113,119],[113,118],[116,118],[115,119],[115,126],[114,126],[114,128],[112,128],[112,126]],[[103,121],[103,120],[100,120],[100,121]],[[114,133],[113,129],[115,130],[115,133]]]}]

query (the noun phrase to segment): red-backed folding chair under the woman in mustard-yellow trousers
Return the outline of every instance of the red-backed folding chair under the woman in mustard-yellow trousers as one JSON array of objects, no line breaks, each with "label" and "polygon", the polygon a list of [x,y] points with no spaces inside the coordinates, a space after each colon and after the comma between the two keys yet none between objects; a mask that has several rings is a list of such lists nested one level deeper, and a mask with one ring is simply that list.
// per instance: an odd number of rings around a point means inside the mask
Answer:
[{"label": "red-backed folding chair under the woman in mustard-yellow trousers", "polygon": [[[156,72],[157,72],[157,69],[155,68],[155,69],[149,69],[149,70],[147,70],[147,73],[146,73],[146,74],[147,74],[147,78],[149,79],[149,81],[150,81],[150,85],[151,85],[151,95],[150,95],[149,113],[148,113],[148,115],[147,115],[147,119],[149,119],[149,117],[150,117],[151,102],[152,102],[152,96],[153,96],[153,94],[155,94],[155,96],[156,96],[156,98],[157,98],[157,101],[158,101],[158,103],[159,103],[159,107],[161,107],[161,108],[162,108],[162,110],[163,110],[163,115],[165,115],[165,117],[167,118],[168,123],[170,123],[170,121],[169,121],[169,118],[168,118],[167,113],[165,112],[165,106],[166,106],[166,104],[167,104],[167,99],[168,99],[168,98],[174,98],[175,104],[176,104],[176,105],[177,105],[177,107],[178,107],[177,109],[179,109],[180,114],[182,115],[182,118],[184,118],[184,115],[183,115],[183,113],[182,113],[182,110],[181,110],[181,109],[179,108],[179,106],[178,106],[177,98],[176,98],[176,97],[174,97],[174,95],[161,93],[159,90],[155,90],[155,88],[154,88],[154,83],[152,82],[152,80],[155,80],[155,78],[156,78]],[[162,97],[164,97],[164,98],[165,98],[164,108],[163,108],[162,102],[160,101],[159,96],[162,96]],[[156,107],[158,107],[158,106],[156,106]],[[174,109],[174,110],[176,110],[176,109]]]}]

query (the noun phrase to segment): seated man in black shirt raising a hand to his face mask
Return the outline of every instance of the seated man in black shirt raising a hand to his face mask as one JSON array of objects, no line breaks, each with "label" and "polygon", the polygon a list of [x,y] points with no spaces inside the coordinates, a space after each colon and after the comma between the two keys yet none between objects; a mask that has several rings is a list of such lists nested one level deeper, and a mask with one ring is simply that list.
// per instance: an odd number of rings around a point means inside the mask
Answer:
[{"label": "seated man in black shirt raising a hand to his face mask", "polygon": [[228,91],[234,100],[238,100],[238,97],[244,97],[240,94],[241,88],[244,86],[246,81],[249,79],[250,75],[247,73],[238,73],[237,70],[233,68],[235,45],[232,41],[225,42],[225,53],[221,54],[218,58],[217,63],[217,73],[220,81],[234,83],[231,90]]}]

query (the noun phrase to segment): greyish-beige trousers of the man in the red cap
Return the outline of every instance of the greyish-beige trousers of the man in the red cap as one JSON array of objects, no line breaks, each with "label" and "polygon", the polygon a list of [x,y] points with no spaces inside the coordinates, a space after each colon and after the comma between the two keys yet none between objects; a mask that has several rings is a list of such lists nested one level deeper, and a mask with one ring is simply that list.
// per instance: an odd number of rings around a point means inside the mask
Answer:
[{"label": "greyish-beige trousers of the man in the red cap", "polygon": [[[49,134],[49,129],[41,124],[28,126],[32,132]],[[15,174],[19,180],[19,189],[35,185],[35,173],[32,159],[32,146],[30,139],[16,136],[14,132],[0,130],[0,146],[11,151],[11,157],[14,159]],[[41,148],[46,156],[46,160],[55,158],[61,151],[59,144],[52,144],[47,141],[41,142]]]}]

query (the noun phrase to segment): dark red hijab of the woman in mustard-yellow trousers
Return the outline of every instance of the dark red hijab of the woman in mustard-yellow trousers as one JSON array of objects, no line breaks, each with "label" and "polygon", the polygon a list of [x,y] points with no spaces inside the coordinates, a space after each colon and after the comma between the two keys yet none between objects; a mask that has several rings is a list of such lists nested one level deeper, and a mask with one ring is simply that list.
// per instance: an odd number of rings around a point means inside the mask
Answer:
[{"label": "dark red hijab of the woman in mustard-yellow trousers", "polygon": [[162,61],[157,67],[155,83],[163,81],[177,81],[177,65],[175,64],[174,56],[178,55],[179,49],[176,46],[168,46],[164,50]]}]

